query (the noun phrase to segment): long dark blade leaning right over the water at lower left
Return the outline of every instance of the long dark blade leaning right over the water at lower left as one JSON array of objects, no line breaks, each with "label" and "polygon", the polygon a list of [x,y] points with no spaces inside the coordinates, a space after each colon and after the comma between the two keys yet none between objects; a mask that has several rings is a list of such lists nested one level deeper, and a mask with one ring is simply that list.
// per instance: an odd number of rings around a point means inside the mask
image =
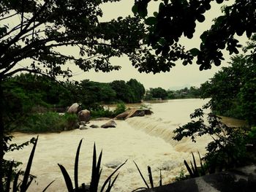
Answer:
[{"label": "long dark blade leaning right over the water at lower left", "polygon": [[37,140],[38,140],[38,135],[37,135],[37,139],[35,139],[35,141],[34,141],[34,146],[31,150],[31,153],[30,153],[30,156],[29,156],[29,161],[28,161],[28,164],[26,166],[23,181],[20,185],[20,192],[25,192],[26,188],[27,188],[27,185],[28,185],[29,173],[30,173],[32,161],[33,161],[33,158],[34,158],[34,151],[36,150],[36,147],[37,147]]}]

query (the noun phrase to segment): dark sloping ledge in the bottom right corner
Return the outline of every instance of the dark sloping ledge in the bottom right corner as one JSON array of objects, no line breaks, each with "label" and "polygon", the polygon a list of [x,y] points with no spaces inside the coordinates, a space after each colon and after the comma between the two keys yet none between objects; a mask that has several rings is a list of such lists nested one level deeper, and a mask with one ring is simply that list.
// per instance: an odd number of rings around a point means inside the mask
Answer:
[{"label": "dark sloping ledge in the bottom right corner", "polygon": [[140,192],[255,192],[256,166],[245,166]]}]

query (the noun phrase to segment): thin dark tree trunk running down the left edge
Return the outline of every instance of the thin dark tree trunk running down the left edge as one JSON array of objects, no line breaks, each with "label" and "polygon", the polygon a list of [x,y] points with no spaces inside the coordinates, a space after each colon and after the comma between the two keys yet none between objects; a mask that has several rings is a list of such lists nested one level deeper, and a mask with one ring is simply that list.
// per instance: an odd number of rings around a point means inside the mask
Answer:
[{"label": "thin dark tree trunk running down the left edge", "polygon": [[2,80],[0,79],[0,191],[4,191],[4,93],[1,83]]}]

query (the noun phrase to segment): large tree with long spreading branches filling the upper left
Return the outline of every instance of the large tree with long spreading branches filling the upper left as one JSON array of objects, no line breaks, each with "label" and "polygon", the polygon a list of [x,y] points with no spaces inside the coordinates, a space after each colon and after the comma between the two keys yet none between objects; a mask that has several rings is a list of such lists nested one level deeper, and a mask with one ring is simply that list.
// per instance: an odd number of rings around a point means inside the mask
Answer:
[{"label": "large tree with long spreading branches filling the upper left", "polygon": [[[0,164],[4,156],[2,82],[17,72],[31,72],[53,80],[72,75],[65,64],[83,71],[110,72],[110,58],[140,55],[145,27],[139,18],[99,22],[100,4],[118,0],[2,0],[0,2]],[[61,47],[61,49],[60,49]],[[67,53],[64,47],[74,50]],[[147,48],[145,48],[147,49]],[[20,63],[23,61],[23,63]],[[3,191],[0,166],[0,191]]]}]

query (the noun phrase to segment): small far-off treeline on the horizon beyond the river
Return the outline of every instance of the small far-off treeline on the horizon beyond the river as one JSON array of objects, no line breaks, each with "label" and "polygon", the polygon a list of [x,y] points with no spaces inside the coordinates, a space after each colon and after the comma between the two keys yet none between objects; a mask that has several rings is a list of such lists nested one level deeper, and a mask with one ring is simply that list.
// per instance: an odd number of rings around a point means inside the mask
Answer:
[{"label": "small far-off treeline on the horizon beyond the river", "polygon": [[172,91],[163,88],[149,88],[144,97],[145,100],[154,99],[191,99],[200,98],[200,88],[190,87]]}]

